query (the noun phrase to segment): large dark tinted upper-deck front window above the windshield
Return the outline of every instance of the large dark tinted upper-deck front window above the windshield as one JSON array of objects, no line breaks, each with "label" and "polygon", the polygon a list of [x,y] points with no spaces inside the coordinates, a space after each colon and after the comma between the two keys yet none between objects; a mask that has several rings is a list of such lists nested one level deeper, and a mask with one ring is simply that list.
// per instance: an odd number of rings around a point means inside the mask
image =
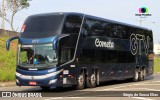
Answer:
[{"label": "large dark tinted upper-deck front window above the windshield", "polygon": [[46,38],[60,34],[64,15],[31,16],[25,21],[22,38]]}]

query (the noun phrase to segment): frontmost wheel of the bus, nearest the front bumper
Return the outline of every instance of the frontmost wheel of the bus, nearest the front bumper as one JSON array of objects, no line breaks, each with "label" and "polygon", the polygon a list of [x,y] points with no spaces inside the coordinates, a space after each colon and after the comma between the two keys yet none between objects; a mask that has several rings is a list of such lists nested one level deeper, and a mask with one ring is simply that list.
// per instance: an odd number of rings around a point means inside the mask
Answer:
[{"label": "frontmost wheel of the bus, nearest the front bumper", "polygon": [[77,85],[75,86],[76,89],[82,90],[85,87],[85,75],[84,73],[78,76]]}]

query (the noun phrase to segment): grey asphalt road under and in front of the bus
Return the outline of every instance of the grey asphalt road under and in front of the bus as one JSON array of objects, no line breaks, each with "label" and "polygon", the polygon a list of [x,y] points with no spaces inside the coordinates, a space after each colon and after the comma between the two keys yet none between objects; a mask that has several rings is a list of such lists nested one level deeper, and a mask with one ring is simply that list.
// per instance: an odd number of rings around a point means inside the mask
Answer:
[{"label": "grey asphalt road under and in front of the bus", "polygon": [[74,90],[72,87],[64,87],[59,89],[51,88],[44,91],[40,87],[13,86],[0,87],[0,91],[18,91],[21,95],[24,92],[33,93],[30,95],[36,95],[34,93],[40,93],[36,96],[42,95],[42,97],[38,98],[1,97],[0,100],[160,100],[160,74],[154,74],[147,77],[145,81],[140,82],[130,82],[128,80],[108,81],[96,88],[87,88],[84,90]]}]

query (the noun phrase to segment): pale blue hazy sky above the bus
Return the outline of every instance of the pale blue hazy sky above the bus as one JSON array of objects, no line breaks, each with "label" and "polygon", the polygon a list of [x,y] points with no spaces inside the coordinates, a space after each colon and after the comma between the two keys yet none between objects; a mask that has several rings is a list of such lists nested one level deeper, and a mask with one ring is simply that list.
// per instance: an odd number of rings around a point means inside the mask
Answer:
[{"label": "pale blue hazy sky above the bus", "polygon": [[[30,7],[19,11],[14,17],[14,28],[20,31],[24,20],[33,14],[49,12],[79,12],[132,25],[153,31],[154,42],[160,42],[160,0],[28,0]],[[0,1],[0,5],[2,1]],[[140,18],[139,8],[147,7],[151,16]],[[7,17],[11,12],[7,11]],[[0,20],[1,26],[1,20]],[[5,23],[5,29],[10,30]]]}]

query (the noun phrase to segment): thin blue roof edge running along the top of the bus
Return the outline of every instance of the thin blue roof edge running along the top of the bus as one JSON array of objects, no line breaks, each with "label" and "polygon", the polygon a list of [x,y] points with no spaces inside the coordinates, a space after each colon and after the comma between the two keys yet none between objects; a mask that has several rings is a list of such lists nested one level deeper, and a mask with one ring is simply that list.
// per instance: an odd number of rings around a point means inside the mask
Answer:
[{"label": "thin blue roof edge running along the top of the bus", "polygon": [[106,18],[101,18],[101,17],[96,17],[96,16],[92,16],[92,15],[87,15],[87,14],[83,14],[83,13],[77,13],[77,12],[55,12],[55,13],[43,13],[43,14],[35,14],[35,15],[31,15],[31,16],[48,16],[48,15],[85,15],[87,17],[90,18],[95,18],[98,20],[103,20],[103,21],[108,21],[108,22],[112,22],[112,23],[116,23],[116,24],[121,24],[121,25],[125,25],[125,26],[130,26],[130,27],[134,27],[134,28],[139,28],[139,29],[144,29],[144,30],[149,30],[148,28],[145,27],[141,27],[141,26],[137,26],[137,25],[132,25],[132,24],[127,24],[127,23],[123,23],[123,22],[119,22],[119,21],[114,21],[114,20],[110,20],[110,19],[106,19]]}]

